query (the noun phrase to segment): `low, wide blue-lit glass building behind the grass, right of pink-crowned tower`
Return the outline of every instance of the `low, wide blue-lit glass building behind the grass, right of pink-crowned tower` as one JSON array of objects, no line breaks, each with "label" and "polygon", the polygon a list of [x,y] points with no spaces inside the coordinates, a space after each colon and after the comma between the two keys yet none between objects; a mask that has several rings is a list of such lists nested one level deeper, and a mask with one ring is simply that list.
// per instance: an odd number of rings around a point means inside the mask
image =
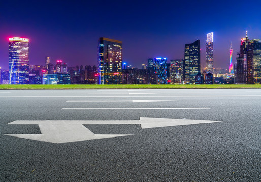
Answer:
[{"label": "low, wide blue-lit glass building behind the grass, right of pink-crowned tower", "polygon": [[70,74],[43,74],[43,84],[71,84]]}]

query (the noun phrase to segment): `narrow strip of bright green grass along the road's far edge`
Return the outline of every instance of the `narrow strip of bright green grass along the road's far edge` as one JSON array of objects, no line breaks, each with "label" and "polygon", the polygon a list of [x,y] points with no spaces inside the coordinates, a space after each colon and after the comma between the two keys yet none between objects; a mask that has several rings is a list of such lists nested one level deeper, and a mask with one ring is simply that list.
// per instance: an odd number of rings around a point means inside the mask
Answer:
[{"label": "narrow strip of bright green grass along the road's far edge", "polygon": [[0,89],[182,89],[182,88],[261,88],[256,85],[0,85]]}]

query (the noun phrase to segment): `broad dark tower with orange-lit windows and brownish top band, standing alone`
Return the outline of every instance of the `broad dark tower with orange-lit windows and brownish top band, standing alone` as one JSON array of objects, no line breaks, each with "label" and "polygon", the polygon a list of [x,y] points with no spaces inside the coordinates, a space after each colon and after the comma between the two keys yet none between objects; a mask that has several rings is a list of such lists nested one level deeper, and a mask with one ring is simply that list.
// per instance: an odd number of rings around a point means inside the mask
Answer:
[{"label": "broad dark tower with orange-lit windows and brownish top band, standing alone", "polygon": [[99,84],[122,84],[122,42],[99,39]]}]

